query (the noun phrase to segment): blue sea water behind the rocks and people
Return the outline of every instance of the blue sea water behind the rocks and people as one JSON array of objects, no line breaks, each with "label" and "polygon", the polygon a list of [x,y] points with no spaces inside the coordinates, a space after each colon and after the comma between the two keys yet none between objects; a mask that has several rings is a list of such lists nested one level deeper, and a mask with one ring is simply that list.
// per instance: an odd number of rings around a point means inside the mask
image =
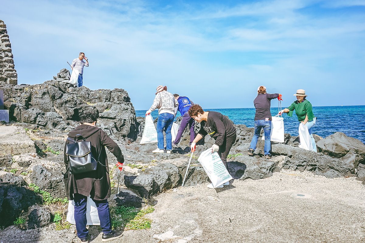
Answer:
[{"label": "blue sea water behind the rocks and people", "polygon": [[[284,109],[285,107],[283,107]],[[235,124],[245,124],[247,127],[254,126],[255,108],[235,108],[235,109],[206,109],[218,111],[223,115],[227,115]],[[271,115],[277,115],[278,108],[271,108]],[[357,138],[365,143],[365,106],[314,106],[313,113],[317,117],[316,125],[313,127],[313,133],[327,137],[335,132],[343,132],[347,136]],[[137,110],[137,117],[144,117],[146,110]],[[158,110],[151,115],[156,118]],[[176,117],[180,116],[180,113]],[[287,114],[284,118],[284,132],[293,136],[299,136],[298,118],[293,113],[293,117]]]}]

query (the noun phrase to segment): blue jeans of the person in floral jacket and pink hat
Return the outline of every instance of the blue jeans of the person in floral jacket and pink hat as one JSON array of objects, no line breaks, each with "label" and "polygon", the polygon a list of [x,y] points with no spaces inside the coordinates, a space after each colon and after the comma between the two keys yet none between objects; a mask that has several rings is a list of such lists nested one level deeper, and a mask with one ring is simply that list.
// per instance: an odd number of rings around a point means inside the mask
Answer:
[{"label": "blue jeans of the person in floral jacket and pink hat", "polygon": [[174,115],[170,113],[161,113],[157,119],[157,147],[159,149],[165,149],[164,146],[164,133],[166,134],[166,150],[172,150],[172,136],[171,127],[174,121]]}]

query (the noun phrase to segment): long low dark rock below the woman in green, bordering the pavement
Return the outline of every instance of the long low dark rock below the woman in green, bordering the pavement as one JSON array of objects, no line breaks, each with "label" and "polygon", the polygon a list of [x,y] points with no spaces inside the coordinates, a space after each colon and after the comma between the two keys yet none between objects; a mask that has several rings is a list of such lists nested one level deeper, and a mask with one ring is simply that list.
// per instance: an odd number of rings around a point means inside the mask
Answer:
[{"label": "long low dark rock below the woman in green, bordering the pavement", "polygon": [[313,171],[327,178],[354,176],[355,170],[337,158],[286,144],[273,144],[273,155],[285,155],[284,169]]}]

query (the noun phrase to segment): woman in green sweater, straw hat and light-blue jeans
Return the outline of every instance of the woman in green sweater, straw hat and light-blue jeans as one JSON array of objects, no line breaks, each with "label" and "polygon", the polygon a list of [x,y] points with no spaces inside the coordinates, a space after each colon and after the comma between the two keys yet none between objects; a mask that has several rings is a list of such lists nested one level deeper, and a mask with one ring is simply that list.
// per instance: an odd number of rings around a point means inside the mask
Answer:
[{"label": "woman in green sweater, straw hat and light-blue jeans", "polygon": [[312,133],[312,127],[315,125],[312,104],[306,99],[307,95],[305,90],[297,90],[294,96],[296,96],[297,100],[295,100],[288,108],[281,110],[279,115],[282,113],[288,113],[289,117],[291,117],[293,115],[293,111],[295,110],[298,120],[307,126],[311,136],[313,151],[317,152],[316,142]]}]

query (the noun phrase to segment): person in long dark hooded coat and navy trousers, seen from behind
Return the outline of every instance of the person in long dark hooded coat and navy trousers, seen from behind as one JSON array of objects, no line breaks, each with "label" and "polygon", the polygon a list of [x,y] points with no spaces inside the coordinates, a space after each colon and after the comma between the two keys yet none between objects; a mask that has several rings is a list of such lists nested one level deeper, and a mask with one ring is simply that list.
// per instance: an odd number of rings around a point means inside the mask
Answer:
[{"label": "person in long dark hooded coat and navy trousers, seen from behind", "polygon": [[[106,242],[120,238],[122,234],[112,231],[110,210],[107,199],[110,198],[111,187],[109,178],[108,159],[105,147],[123,163],[124,157],[118,145],[101,129],[96,127],[96,120],[99,117],[97,109],[86,110],[80,115],[80,125],[70,131],[64,149],[64,162],[66,173],[64,183],[68,200],[74,200],[74,217],[77,229],[77,236],[81,242],[88,242],[88,229],[86,228],[86,204],[87,197],[97,206],[100,219],[100,228],[103,231],[102,241]],[[86,141],[91,141],[91,152],[95,158],[99,158],[95,171],[81,174],[70,174],[68,156],[66,155],[66,145],[73,143],[77,134],[81,134]]]}]

